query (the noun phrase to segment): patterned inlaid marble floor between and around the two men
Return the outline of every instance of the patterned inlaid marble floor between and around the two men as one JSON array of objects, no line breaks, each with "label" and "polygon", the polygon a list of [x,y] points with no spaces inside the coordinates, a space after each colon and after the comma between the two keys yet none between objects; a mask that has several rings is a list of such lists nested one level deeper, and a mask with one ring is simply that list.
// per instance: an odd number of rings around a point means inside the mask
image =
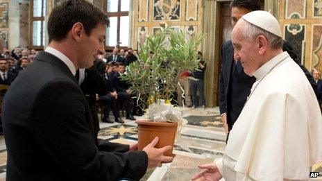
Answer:
[{"label": "patterned inlaid marble floor between and around the two men", "polygon": [[[180,109],[187,125],[180,128],[180,136],[176,138],[173,153],[175,159],[170,164],[163,164],[157,169],[149,169],[142,180],[191,180],[198,173],[198,164],[207,164],[223,156],[226,147],[226,135],[223,132],[218,107],[201,109]],[[112,117],[112,116],[111,116]],[[144,117],[137,117],[144,119]],[[135,121],[126,120],[120,123],[100,123],[99,138],[108,139],[121,144],[137,141]],[[313,171],[322,173],[322,163],[316,164]],[[6,179],[6,145],[0,136],[0,181]],[[317,178],[314,180],[322,180]]]}]

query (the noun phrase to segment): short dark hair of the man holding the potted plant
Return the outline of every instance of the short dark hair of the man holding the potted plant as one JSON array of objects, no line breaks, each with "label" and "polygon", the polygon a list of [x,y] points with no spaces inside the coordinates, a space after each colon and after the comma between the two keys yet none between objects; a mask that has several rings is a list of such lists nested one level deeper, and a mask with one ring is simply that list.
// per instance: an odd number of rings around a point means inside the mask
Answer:
[{"label": "short dark hair of the man holding the potted plant", "polygon": [[86,35],[101,23],[109,25],[108,16],[85,0],[63,1],[53,8],[48,20],[49,42],[63,40],[77,22],[83,24]]}]

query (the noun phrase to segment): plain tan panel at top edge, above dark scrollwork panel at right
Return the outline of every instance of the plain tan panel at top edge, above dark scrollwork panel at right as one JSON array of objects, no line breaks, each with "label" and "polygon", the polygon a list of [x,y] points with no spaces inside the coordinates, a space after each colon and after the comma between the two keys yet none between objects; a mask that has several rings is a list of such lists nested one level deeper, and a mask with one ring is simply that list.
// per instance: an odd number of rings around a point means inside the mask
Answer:
[{"label": "plain tan panel at top edge, above dark scrollwork panel at right", "polygon": [[285,3],[285,18],[305,18],[306,0],[287,0]]}]

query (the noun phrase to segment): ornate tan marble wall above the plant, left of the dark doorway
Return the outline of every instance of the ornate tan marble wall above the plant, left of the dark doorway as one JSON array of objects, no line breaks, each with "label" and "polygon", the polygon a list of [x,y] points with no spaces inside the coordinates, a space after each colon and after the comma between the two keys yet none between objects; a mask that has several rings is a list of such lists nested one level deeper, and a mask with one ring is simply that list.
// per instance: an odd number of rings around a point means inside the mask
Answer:
[{"label": "ornate tan marble wall above the plant, left of the dark doorway", "polygon": [[167,24],[182,30],[187,37],[202,31],[202,0],[138,0],[133,1],[134,32],[132,44],[138,49],[146,36]]}]

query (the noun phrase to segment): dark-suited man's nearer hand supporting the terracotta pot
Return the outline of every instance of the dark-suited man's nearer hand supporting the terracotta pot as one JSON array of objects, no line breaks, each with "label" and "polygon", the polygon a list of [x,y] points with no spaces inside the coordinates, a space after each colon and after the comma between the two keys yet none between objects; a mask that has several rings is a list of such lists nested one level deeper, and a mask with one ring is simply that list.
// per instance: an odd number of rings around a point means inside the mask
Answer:
[{"label": "dark-suited man's nearer hand supporting the terracotta pot", "polygon": [[154,148],[158,144],[159,138],[155,137],[153,141],[148,144],[143,150],[148,155],[148,167],[162,166],[162,163],[172,162],[173,157],[164,156],[163,153],[171,149],[171,146],[164,146],[162,148]]}]

